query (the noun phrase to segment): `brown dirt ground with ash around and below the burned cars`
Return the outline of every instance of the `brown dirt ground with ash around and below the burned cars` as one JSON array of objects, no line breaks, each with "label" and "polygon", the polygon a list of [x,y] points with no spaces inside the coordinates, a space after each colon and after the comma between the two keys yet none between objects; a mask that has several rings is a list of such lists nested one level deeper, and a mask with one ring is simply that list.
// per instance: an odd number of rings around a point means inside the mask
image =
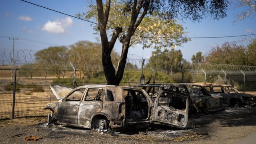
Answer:
[{"label": "brown dirt ground with ash around and below the burned cars", "polygon": [[[98,132],[61,125],[46,126],[47,117],[0,120],[0,138],[4,144],[232,144],[256,132],[256,108],[226,108],[212,114],[193,114],[188,129],[155,126],[126,132]],[[39,136],[37,141],[25,141]]]}]

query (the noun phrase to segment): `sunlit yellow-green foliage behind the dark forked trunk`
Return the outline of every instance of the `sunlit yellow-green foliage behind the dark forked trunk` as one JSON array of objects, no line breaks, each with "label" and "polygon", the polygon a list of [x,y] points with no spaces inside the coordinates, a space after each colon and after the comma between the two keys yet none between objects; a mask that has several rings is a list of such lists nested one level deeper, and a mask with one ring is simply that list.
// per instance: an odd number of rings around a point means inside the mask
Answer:
[{"label": "sunlit yellow-green foliage behind the dark forked trunk", "polygon": [[[104,5],[104,8],[106,5]],[[120,27],[125,35],[128,27],[130,25],[130,14],[129,16],[124,16],[125,5],[122,1],[112,0],[111,10],[108,16],[108,27],[106,30],[108,33],[112,33],[111,28]],[[156,13],[158,14],[158,13]],[[186,37],[188,32],[184,32],[182,25],[177,24],[176,20],[166,20],[160,18],[156,14],[146,15],[138,28],[135,31],[135,35],[147,37],[147,39],[139,36],[132,36],[130,40],[130,46],[136,46],[136,44],[144,44],[143,48],[165,48],[172,46],[180,46],[182,43],[189,41],[188,38],[153,38],[153,37]],[[78,13],[78,17],[85,18],[86,20],[96,20],[98,21],[97,6],[90,4],[88,6],[88,11],[85,13]],[[99,33],[97,25],[94,25],[95,34]]]}]

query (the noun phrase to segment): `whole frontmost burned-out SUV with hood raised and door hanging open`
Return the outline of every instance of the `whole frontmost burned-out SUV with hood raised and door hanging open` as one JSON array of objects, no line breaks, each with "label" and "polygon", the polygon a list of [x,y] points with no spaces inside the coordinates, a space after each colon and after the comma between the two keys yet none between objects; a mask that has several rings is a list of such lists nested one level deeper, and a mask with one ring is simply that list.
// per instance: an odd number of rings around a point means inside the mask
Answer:
[{"label": "whole frontmost burned-out SUV with hood raised and door hanging open", "polygon": [[175,104],[174,92],[162,91],[152,102],[146,91],[128,86],[85,85],[70,88],[51,85],[58,102],[47,104],[50,109],[48,122],[62,125],[107,130],[108,128],[146,128],[160,123],[168,126],[186,128],[188,108],[180,110]]}]

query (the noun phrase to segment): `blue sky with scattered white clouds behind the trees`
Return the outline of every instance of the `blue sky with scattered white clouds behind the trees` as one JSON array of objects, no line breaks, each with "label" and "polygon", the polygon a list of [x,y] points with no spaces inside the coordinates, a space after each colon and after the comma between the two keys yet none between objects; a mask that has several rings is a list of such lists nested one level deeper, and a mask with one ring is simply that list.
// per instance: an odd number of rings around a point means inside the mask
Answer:
[{"label": "blue sky with scattered white clouds behind the trees", "polygon": [[[86,0],[27,0],[28,2],[50,8],[71,16],[79,12],[85,12]],[[256,34],[256,18],[245,18],[242,21],[233,23],[234,15],[241,12],[241,8],[228,8],[227,17],[221,20],[214,20],[210,17],[202,19],[199,23],[191,20],[179,21],[184,31],[189,32],[188,37],[219,37],[219,36],[240,36]],[[14,54],[23,51],[36,52],[49,46],[68,46],[80,40],[97,42],[93,34],[90,22],[76,19],[58,12],[54,12],[22,0],[0,0],[0,52],[12,51],[13,38]],[[255,38],[254,35],[253,38]],[[177,46],[181,50],[183,58],[191,62],[192,55],[202,52],[202,55],[216,45],[224,42],[241,41],[246,37],[229,38],[192,38],[191,41]],[[244,46],[248,42],[240,42]],[[118,53],[122,45],[117,42],[114,50]],[[154,49],[142,50],[142,46],[130,48],[128,58],[149,59]],[[4,52],[8,53],[8,52]],[[14,57],[15,58],[15,57]]]}]

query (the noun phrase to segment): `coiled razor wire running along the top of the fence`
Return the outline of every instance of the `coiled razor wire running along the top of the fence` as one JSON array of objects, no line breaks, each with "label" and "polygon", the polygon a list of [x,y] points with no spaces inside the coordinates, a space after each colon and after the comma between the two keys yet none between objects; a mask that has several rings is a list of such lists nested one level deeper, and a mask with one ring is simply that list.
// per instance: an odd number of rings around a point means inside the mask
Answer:
[{"label": "coiled razor wire running along the top of the fence", "polygon": [[[24,64],[32,64],[32,63],[37,63],[37,64],[52,64],[51,62],[38,62],[36,60],[35,54],[36,50],[14,50],[14,62],[16,65],[24,65]],[[45,51],[46,52],[46,51]],[[64,56],[65,52],[59,52],[58,56]],[[56,57],[56,53],[54,52],[46,52],[48,57]],[[68,65],[70,66],[70,62],[74,64],[76,68],[81,69],[79,65],[83,67],[102,67],[101,64],[101,56],[92,56],[91,54],[83,54],[83,56],[77,56],[76,53],[73,54],[74,57],[68,56],[67,59],[62,60],[60,63],[54,63],[54,65]],[[65,61],[65,62],[64,62]],[[140,69],[142,66],[142,59],[132,59],[132,58],[127,58],[126,60],[127,63],[130,63],[134,66],[134,68]],[[114,65],[117,66],[116,62]],[[150,65],[148,59],[144,59],[144,68],[149,68]],[[12,65],[12,51],[7,50],[7,49],[1,49],[1,54],[0,54],[0,65]],[[147,65],[147,66],[146,66]],[[154,66],[152,66],[154,68]],[[157,68],[158,70],[161,70],[161,68]],[[164,69],[162,69],[164,70]],[[227,72],[231,73],[238,73],[242,70],[244,72],[248,73],[256,73],[256,66],[237,66],[237,65],[230,65],[230,64],[209,64],[209,63],[204,63],[204,64],[186,64],[183,66],[184,72],[200,72],[201,70],[207,71],[207,72],[219,72],[222,70],[225,70]]]}]

